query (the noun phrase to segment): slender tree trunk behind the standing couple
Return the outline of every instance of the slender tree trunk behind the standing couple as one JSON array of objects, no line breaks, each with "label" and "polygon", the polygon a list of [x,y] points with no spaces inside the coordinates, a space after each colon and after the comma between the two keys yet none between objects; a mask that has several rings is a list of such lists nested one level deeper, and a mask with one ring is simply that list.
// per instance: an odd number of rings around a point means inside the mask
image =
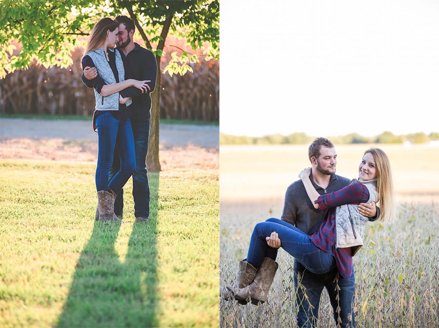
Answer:
[{"label": "slender tree trunk behind the standing couple", "polygon": [[149,131],[148,155],[146,156],[146,168],[149,172],[160,172],[159,160],[159,130],[160,130],[160,91],[161,70],[160,57],[156,56],[157,80],[156,89],[151,93],[151,129]]}]

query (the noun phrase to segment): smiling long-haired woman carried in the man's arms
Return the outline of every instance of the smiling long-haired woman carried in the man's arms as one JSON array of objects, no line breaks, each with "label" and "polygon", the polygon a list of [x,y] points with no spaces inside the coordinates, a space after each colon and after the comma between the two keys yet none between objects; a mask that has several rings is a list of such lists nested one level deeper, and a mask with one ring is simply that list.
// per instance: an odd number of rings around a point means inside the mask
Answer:
[{"label": "smiling long-haired woman carried in the man's arms", "polygon": [[339,275],[350,279],[352,257],[363,244],[364,225],[369,220],[355,204],[378,202],[379,219],[392,219],[396,213],[392,174],[387,155],[379,148],[366,150],[359,164],[359,179],[329,194],[319,195],[309,176],[311,169],[300,172],[309,206],[326,212],[319,230],[308,236],[292,224],[280,219],[267,219],[253,230],[247,258],[238,264],[234,286],[221,289],[225,299],[235,298],[240,304],[250,299],[263,303],[277,271],[277,249],[282,247],[312,273],[327,273],[337,267]]}]

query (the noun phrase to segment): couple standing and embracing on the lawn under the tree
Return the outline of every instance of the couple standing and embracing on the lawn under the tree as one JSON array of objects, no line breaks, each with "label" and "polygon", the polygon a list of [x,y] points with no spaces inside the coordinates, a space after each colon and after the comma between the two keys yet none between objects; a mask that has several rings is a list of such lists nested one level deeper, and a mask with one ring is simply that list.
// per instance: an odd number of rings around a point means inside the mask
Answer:
[{"label": "couple standing and embracing on the lawn under the tree", "polygon": [[93,88],[96,99],[97,220],[121,221],[122,188],[131,176],[136,222],[146,222],[149,216],[146,154],[157,62],[151,51],[134,43],[134,31],[134,21],[126,16],[100,19],[81,62],[81,79]]}]

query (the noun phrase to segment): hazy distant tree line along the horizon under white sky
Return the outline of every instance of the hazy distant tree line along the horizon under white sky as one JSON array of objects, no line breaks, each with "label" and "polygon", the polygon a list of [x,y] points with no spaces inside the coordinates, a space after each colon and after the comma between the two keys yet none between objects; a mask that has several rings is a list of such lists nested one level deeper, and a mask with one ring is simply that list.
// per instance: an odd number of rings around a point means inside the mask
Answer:
[{"label": "hazy distant tree line along the horizon under white sky", "polygon": [[[220,133],[220,145],[306,145],[316,137],[308,136],[303,132],[296,132],[284,136],[282,134],[270,134],[263,137],[234,136]],[[385,131],[375,137],[363,137],[358,133],[350,133],[344,136],[328,137],[335,144],[403,144],[408,141],[413,144],[424,144],[430,141],[439,141],[439,132],[429,135],[424,132],[395,135]]]}]

